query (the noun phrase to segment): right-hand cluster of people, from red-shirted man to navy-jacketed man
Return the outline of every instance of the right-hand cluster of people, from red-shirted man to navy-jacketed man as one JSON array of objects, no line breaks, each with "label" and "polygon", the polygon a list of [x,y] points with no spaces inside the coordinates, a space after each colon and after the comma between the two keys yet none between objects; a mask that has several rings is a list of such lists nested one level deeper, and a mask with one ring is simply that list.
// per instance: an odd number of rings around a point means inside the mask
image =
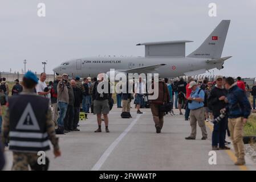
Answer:
[{"label": "right-hand cluster of people, from red-shirted man to navy-jacketed man", "polygon": [[[230,137],[237,162],[245,164],[245,148],[243,146],[243,126],[255,109],[256,85],[250,88],[241,77],[235,82],[232,77],[216,76],[214,82],[194,81],[188,78],[188,84],[181,78],[171,84],[175,95],[174,106],[185,109],[185,121],[190,120],[191,134],[186,140],[196,139],[197,123],[202,131],[202,140],[208,138],[206,122],[213,123],[212,150],[230,150],[226,144],[226,134]],[[253,108],[249,97],[253,96]]]}]

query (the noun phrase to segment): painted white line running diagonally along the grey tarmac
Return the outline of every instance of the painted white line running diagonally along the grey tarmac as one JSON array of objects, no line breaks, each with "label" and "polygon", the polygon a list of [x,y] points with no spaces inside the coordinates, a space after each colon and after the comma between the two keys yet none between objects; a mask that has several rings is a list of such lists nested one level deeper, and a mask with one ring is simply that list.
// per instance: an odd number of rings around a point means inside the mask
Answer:
[{"label": "painted white line running diagonally along the grey tarmac", "polygon": [[111,152],[115,149],[117,144],[127,135],[127,133],[132,129],[132,127],[136,124],[138,119],[140,118],[142,114],[137,115],[137,117],[131,122],[131,124],[119,135],[119,137],[107,148],[107,150],[104,152],[103,155],[101,155],[100,159],[97,161],[97,163],[94,165],[94,167],[91,169],[91,171],[99,171],[101,166],[104,164],[104,162],[108,159],[108,156],[111,154]]}]

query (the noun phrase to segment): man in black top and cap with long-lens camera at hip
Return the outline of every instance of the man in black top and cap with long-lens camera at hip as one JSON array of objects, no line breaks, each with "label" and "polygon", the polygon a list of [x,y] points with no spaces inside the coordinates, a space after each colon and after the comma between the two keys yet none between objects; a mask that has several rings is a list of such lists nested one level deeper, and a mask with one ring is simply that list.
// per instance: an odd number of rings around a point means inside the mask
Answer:
[{"label": "man in black top and cap with long-lens camera at hip", "polygon": [[[227,96],[227,90],[224,88],[223,77],[216,77],[216,85],[210,91],[208,98],[208,107],[213,111],[214,127],[212,135],[212,147],[213,150],[230,150],[225,146],[225,137],[227,129],[227,117],[226,114],[222,114],[221,109],[226,107],[225,98]],[[219,148],[218,148],[219,146]]]}]

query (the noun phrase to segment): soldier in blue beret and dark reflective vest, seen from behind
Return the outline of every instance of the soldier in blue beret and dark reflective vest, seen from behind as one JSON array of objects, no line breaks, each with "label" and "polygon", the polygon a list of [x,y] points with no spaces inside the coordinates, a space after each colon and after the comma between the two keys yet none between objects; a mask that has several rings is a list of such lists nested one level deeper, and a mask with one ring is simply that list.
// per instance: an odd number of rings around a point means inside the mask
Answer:
[{"label": "soldier in blue beret and dark reflective vest, seen from behind", "polygon": [[48,139],[54,146],[55,157],[61,154],[49,100],[34,93],[37,83],[35,74],[27,72],[23,77],[23,92],[10,98],[3,119],[2,142],[10,140],[9,149],[13,151],[12,170],[15,171],[26,171],[29,166],[31,169],[43,169],[44,165],[38,164],[38,152],[50,150]]}]

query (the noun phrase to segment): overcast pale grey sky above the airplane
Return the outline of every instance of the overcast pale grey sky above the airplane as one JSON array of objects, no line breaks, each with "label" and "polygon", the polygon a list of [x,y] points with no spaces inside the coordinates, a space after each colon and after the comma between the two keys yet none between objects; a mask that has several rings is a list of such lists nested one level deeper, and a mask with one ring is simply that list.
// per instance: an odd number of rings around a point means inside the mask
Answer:
[{"label": "overcast pale grey sky above the airplane", "polygon": [[[38,3],[46,16],[38,16]],[[217,16],[210,17],[209,3]],[[230,19],[222,57],[233,56],[214,75],[256,77],[256,0],[0,0],[0,71],[46,72],[60,63],[104,55],[144,56],[143,42],[193,40],[186,55],[222,19]],[[213,71],[210,71],[213,74]]]}]

